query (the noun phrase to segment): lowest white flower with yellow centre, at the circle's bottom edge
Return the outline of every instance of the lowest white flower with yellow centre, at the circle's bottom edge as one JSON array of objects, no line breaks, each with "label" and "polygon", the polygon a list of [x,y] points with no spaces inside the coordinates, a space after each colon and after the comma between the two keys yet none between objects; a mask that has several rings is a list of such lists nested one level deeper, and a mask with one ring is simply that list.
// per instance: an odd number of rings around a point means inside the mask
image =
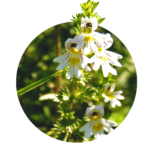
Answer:
[{"label": "lowest white flower with yellow centre, at the circle's bottom edge", "polygon": [[85,132],[85,138],[90,138],[94,134],[94,139],[99,140],[106,137],[104,131],[111,134],[114,131],[112,127],[117,126],[116,122],[101,118],[104,115],[104,109],[101,105],[88,107],[86,115],[90,121],[79,130]]}]

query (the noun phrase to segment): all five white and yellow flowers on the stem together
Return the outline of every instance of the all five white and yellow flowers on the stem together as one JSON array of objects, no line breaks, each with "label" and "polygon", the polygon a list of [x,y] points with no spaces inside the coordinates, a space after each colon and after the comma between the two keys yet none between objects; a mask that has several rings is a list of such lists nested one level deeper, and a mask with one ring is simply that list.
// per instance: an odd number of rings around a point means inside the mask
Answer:
[{"label": "all five white and yellow flowers on the stem together", "polygon": [[[117,75],[117,71],[110,64],[121,67],[122,65],[118,59],[121,59],[122,55],[108,50],[113,44],[113,39],[109,33],[96,32],[97,28],[97,17],[82,17],[81,34],[76,35],[74,38],[68,38],[65,42],[67,52],[53,60],[59,63],[56,70],[62,70],[69,66],[66,73],[67,79],[71,79],[74,75],[76,78],[81,79],[82,69],[91,71],[88,66],[90,63],[94,63],[93,70],[98,70],[102,66],[104,77],[107,77],[109,73]],[[91,58],[87,57],[89,53],[93,54]],[[110,101],[113,108],[116,105],[121,106],[120,101],[117,99],[124,99],[124,96],[120,95],[122,91],[114,92],[114,89],[115,83],[107,83],[101,93],[102,97],[104,97],[104,102]],[[101,105],[88,107],[86,115],[90,121],[79,130],[80,132],[85,132],[85,138],[90,138],[93,134],[95,140],[104,138],[106,133],[111,134],[114,131],[112,127],[118,125],[116,122],[102,118],[104,109]]]}]

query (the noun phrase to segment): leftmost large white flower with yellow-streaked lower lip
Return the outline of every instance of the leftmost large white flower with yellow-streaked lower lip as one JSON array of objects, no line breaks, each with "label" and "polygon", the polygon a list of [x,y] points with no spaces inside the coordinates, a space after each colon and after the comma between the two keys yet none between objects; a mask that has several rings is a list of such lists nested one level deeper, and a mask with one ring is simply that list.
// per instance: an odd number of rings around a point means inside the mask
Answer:
[{"label": "leftmost large white flower with yellow-streaked lower lip", "polygon": [[77,78],[82,78],[80,67],[86,71],[91,70],[91,68],[87,65],[90,63],[90,59],[83,55],[81,49],[83,45],[84,43],[80,36],[76,35],[73,39],[68,38],[65,42],[65,47],[68,52],[53,60],[54,62],[60,63],[56,70],[61,70],[69,65],[69,69],[66,74],[67,79],[70,79],[73,75]]}]

